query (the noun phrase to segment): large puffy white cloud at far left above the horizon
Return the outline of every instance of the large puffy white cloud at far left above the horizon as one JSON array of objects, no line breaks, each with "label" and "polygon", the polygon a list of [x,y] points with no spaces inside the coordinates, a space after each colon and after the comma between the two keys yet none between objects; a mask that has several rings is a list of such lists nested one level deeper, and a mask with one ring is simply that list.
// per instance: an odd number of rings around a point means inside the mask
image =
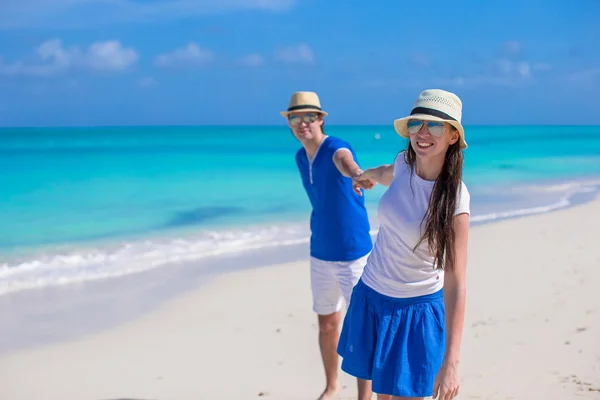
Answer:
[{"label": "large puffy white cloud at far left above the horizon", "polygon": [[34,49],[35,60],[6,62],[0,59],[0,75],[48,77],[75,70],[121,72],[139,59],[132,48],[118,40],[94,42],[87,49],[64,47],[60,39],[47,40]]}]

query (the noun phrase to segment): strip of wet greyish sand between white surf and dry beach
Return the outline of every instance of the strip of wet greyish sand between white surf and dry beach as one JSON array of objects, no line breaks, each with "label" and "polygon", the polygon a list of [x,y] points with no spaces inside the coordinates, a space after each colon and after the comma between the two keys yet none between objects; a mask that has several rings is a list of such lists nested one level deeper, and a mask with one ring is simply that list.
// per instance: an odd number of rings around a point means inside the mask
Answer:
[{"label": "strip of wet greyish sand between white surf and dry beach", "polygon": [[[600,196],[596,192],[581,193],[572,197],[571,204],[559,209],[476,221],[471,223],[471,227],[479,229],[505,221],[552,215],[593,204],[598,198]],[[376,236],[377,230],[374,229],[373,240]],[[0,338],[0,357],[117,328],[151,314],[166,302],[203,290],[224,274],[252,271],[266,265],[304,262],[308,259],[307,245],[308,239],[305,239],[293,245],[190,260],[119,277],[0,295],[0,314],[9,316],[0,321],[0,331],[4,332]],[[215,268],[215,263],[218,263],[219,269]]]}]

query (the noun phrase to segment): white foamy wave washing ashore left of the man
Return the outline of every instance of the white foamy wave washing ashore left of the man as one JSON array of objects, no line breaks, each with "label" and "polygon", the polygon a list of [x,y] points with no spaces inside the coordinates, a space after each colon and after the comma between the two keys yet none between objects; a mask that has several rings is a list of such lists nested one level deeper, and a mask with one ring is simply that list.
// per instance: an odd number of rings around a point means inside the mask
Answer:
[{"label": "white foamy wave washing ashore left of the man", "polygon": [[209,232],[186,238],[132,241],[59,254],[38,254],[26,260],[0,264],[0,295],[116,278],[173,263],[307,242],[306,228],[289,225]]}]

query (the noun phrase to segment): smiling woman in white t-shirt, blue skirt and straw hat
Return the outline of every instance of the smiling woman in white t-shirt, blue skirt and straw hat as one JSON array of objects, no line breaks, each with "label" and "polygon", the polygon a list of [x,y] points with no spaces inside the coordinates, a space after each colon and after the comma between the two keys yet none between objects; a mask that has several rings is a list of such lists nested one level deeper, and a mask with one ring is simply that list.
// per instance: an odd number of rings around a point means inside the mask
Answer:
[{"label": "smiling woman in white t-shirt, blue skirt and straw hat", "polygon": [[372,380],[378,399],[458,393],[470,214],[461,117],[455,94],[423,91],[411,115],[394,121],[410,139],[406,151],[355,178],[389,188],[338,353],[345,372]]}]

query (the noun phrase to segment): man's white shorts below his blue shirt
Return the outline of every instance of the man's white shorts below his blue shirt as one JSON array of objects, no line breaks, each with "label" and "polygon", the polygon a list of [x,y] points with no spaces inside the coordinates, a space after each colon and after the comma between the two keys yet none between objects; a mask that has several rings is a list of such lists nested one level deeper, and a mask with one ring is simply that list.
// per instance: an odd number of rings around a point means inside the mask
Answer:
[{"label": "man's white shorts below his blue shirt", "polygon": [[323,261],[310,258],[310,286],[313,311],[320,315],[340,311],[350,303],[352,289],[358,283],[369,254],[353,261]]}]

